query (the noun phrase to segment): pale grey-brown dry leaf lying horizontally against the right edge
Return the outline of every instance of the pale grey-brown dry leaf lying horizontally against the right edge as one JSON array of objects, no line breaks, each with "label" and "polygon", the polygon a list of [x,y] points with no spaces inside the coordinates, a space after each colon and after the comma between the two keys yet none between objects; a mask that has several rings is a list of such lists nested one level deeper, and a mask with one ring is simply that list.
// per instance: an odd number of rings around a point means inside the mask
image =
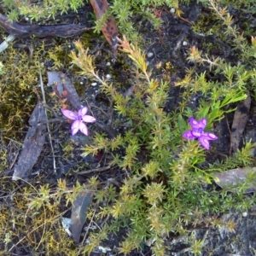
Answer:
[{"label": "pale grey-brown dry leaf lying horizontally against the right edge", "polygon": [[[238,187],[241,183],[244,183],[246,178],[250,173],[255,173],[256,167],[245,167],[245,168],[237,168],[232,169],[225,172],[214,173],[213,175],[216,177],[214,181],[221,188],[229,188],[230,191],[234,191],[234,187]],[[252,193],[256,191],[256,183],[250,183],[249,188],[245,193]]]}]

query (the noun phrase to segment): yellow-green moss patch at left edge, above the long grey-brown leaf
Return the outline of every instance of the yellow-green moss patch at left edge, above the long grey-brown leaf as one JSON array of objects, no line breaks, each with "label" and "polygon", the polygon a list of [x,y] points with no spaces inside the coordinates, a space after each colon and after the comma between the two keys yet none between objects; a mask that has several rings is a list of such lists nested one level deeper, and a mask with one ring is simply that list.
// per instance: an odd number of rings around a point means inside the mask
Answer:
[{"label": "yellow-green moss patch at left edge, above the long grey-brown leaf", "polygon": [[67,44],[55,44],[49,48],[44,40],[33,49],[32,58],[24,49],[9,46],[2,54],[3,67],[0,75],[0,128],[3,138],[20,140],[28,125],[28,119],[37,102],[35,90],[39,90],[39,68],[47,84],[48,70],[61,70],[68,65]]}]

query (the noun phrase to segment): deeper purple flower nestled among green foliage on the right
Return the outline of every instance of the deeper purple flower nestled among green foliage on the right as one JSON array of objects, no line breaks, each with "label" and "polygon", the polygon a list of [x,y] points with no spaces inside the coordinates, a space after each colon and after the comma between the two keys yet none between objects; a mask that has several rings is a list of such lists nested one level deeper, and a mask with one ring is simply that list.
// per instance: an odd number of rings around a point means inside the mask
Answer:
[{"label": "deeper purple flower nestled among green foliage on the right", "polygon": [[209,149],[209,141],[214,141],[218,139],[215,134],[204,131],[207,126],[207,119],[200,119],[199,121],[197,121],[196,119],[191,117],[189,118],[189,125],[191,126],[192,130],[185,131],[183,133],[183,137],[189,140],[197,139],[201,143],[201,146],[203,146],[204,148]]}]

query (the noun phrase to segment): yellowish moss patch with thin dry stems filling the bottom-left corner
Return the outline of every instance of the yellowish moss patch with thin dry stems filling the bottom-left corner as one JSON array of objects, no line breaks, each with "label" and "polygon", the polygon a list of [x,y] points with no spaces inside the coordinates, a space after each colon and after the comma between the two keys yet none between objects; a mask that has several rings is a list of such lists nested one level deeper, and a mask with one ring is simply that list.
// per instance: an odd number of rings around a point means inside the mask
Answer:
[{"label": "yellowish moss patch with thin dry stems filling the bottom-left corner", "polygon": [[[2,189],[12,193],[15,183],[9,183],[8,178],[1,179]],[[42,200],[41,193],[46,189],[42,186],[38,191],[29,183],[23,189],[15,189],[12,203],[15,207],[10,207],[9,203],[2,204],[0,211],[0,239],[1,253],[9,254],[11,248],[23,247],[33,255],[38,255],[38,251],[45,255],[57,255],[64,252],[64,255],[78,255],[79,247],[63,229],[60,218],[63,212],[58,207],[58,201],[47,202]],[[40,207],[28,207],[38,195],[40,199],[35,200]],[[14,230],[15,227],[15,230]]]}]

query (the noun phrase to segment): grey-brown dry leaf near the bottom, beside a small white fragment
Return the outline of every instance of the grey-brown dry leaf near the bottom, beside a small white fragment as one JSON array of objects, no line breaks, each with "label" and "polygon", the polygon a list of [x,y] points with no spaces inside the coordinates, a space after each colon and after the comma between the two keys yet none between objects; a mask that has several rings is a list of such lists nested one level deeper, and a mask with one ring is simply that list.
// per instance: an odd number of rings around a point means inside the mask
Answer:
[{"label": "grey-brown dry leaf near the bottom, beside a small white fragment", "polygon": [[73,202],[71,213],[71,231],[73,240],[76,243],[80,241],[81,230],[83,229],[88,208],[92,201],[92,194],[87,190],[80,191],[75,201]]}]

